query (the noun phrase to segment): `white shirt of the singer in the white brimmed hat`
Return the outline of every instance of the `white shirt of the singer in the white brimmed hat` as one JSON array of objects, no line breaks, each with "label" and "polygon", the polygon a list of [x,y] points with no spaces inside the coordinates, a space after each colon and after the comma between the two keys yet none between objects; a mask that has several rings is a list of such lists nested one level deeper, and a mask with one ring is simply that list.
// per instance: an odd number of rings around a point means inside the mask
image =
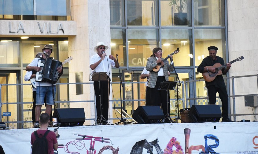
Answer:
[{"label": "white shirt of the singer in the white brimmed hat", "polygon": [[[96,63],[100,59],[101,59],[101,57],[99,57],[98,54],[94,54],[90,58],[90,65]],[[115,61],[113,61],[112,59],[109,59],[107,56],[105,56],[105,59],[103,59],[99,63],[99,65],[94,69],[94,72],[107,72],[107,73],[110,73],[111,68],[109,66],[115,67],[115,65],[116,65]]]}]

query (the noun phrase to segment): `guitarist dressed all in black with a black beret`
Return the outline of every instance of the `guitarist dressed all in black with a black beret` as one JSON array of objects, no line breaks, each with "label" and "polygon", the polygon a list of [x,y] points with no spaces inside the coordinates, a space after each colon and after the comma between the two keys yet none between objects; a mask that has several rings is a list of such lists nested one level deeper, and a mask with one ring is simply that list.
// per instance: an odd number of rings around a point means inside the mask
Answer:
[{"label": "guitarist dressed all in black with a black beret", "polygon": [[[217,50],[218,48],[215,46],[208,47],[209,56],[203,59],[203,61],[197,68],[197,72],[215,73],[216,72],[215,67],[207,67],[207,66],[213,66],[216,63],[219,63],[221,65],[225,64],[223,58],[216,56]],[[231,67],[231,64],[227,63],[226,67],[221,69],[222,74],[225,75],[230,69],[230,67]],[[226,85],[222,74],[217,75],[216,78],[211,82],[205,81],[205,86],[208,89],[209,104],[216,104],[216,93],[218,92],[219,98],[221,99],[221,102],[222,102],[222,122],[234,122],[228,118],[228,95],[227,95],[227,89],[226,89]]]}]

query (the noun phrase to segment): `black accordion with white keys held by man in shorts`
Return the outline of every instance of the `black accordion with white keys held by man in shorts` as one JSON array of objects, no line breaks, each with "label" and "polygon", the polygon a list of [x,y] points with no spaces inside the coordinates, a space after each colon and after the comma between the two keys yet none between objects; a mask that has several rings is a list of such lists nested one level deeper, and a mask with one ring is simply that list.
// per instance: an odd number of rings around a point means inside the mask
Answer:
[{"label": "black accordion with white keys held by man in shorts", "polygon": [[38,67],[41,68],[41,71],[36,73],[35,81],[37,82],[49,82],[52,84],[56,84],[59,77],[62,75],[57,71],[57,68],[62,67],[62,62],[46,58],[39,59]]}]

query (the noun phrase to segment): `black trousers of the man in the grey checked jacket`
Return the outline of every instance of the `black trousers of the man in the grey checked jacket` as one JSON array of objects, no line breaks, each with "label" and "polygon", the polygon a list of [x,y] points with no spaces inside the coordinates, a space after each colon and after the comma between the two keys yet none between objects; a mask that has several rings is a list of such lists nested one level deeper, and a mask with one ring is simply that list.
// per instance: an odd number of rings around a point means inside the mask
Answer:
[{"label": "black trousers of the man in the grey checked jacket", "polygon": [[[170,117],[170,95],[169,90],[159,90],[160,83],[166,81],[164,76],[158,76],[157,82],[154,88],[147,87],[146,93],[150,97],[149,101],[147,101],[146,96],[146,106],[161,106],[162,112],[166,116],[168,113]],[[168,95],[167,95],[168,94]]]}]

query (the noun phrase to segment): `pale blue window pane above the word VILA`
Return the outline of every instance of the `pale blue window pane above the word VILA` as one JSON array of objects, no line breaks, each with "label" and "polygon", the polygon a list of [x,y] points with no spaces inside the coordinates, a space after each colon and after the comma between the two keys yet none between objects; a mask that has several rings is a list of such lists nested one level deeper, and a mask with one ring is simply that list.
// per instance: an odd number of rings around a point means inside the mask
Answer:
[{"label": "pale blue window pane above the word VILA", "polygon": [[[67,5],[68,4],[68,5]],[[36,0],[36,15],[66,16],[70,15],[70,1],[66,0]]]}]

